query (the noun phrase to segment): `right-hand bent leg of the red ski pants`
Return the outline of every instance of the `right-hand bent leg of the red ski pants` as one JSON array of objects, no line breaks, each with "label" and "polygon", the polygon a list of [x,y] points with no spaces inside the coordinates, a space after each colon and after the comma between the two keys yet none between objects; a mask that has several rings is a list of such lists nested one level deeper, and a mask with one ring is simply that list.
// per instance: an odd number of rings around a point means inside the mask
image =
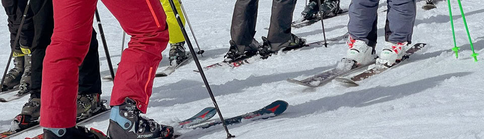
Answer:
[{"label": "right-hand bent leg of the red ski pants", "polygon": [[146,113],[161,52],[169,40],[163,8],[158,0],[102,2],[132,36],[119,62],[110,105],[121,105],[129,97]]}]

